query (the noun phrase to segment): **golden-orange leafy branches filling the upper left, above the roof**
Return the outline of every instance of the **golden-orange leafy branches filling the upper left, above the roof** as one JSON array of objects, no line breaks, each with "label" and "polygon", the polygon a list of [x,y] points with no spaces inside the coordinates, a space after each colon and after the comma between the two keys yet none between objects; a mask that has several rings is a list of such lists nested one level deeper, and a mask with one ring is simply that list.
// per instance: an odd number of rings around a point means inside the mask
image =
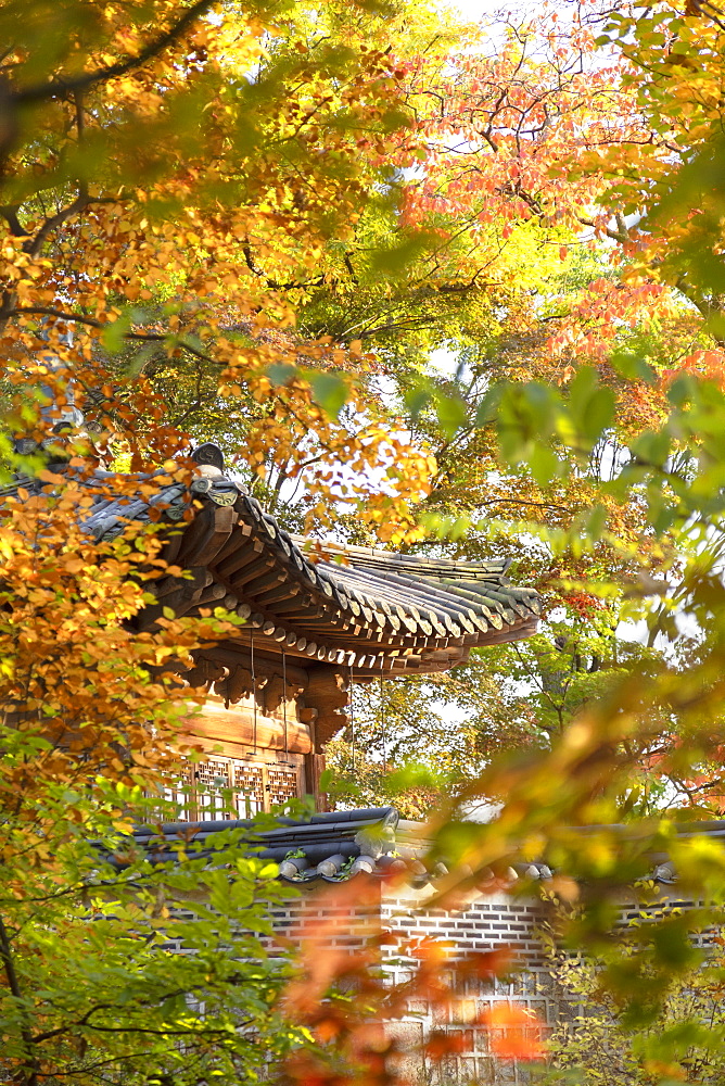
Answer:
[{"label": "golden-orange leafy branches filling the upper left, above the roof", "polygon": [[[213,382],[225,411],[251,406],[246,465],[311,459],[318,516],[334,496],[408,525],[430,465],[360,387],[373,359],[295,329],[403,124],[396,60],[354,27],[310,49],[304,16],[211,8],[71,3],[21,29],[5,7],[0,345],[25,389],[41,351],[67,365],[101,445],[135,468],[187,447]],[[186,409],[169,383],[195,388]],[[373,467],[389,485],[371,505]]]}]

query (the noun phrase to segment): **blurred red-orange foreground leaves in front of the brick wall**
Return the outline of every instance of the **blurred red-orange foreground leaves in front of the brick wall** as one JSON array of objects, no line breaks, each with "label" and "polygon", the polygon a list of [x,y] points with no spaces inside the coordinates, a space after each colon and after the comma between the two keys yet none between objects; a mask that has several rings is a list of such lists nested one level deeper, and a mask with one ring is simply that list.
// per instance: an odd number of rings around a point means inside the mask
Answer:
[{"label": "blurred red-orange foreground leaves in front of the brick wall", "polygon": [[[394,882],[389,879],[386,888],[394,889]],[[467,1036],[472,1047],[471,1031],[482,1026],[489,1031],[493,1056],[524,1063],[540,1059],[542,1023],[517,1003],[494,997],[494,982],[511,968],[509,956],[468,951],[459,958],[457,948],[440,939],[411,939],[382,929],[380,896],[380,884],[360,886],[358,881],[328,887],[305,902],[309,917],[305,919],[303,908],[303,930],[295,939],[298,974],[283,1002],[320,1047],[290,1057],[285,1073],[291,1081],[405,1086],[417,1081],[422,1068],[433,1073],[445,1068],[463,1050]],[[351,932],[357,948],[335,947]],[[394,978],[393,967],[402,962],[408,980]],[[466,998],[471,984],[488,989],[489,1009],[471,1014],[472,1000]],[[400,1023],[415,1022],[415,1008],[421,1005],[434,1020],[462,1028],[419,1028],[418,1041],[411,1043]]]}]

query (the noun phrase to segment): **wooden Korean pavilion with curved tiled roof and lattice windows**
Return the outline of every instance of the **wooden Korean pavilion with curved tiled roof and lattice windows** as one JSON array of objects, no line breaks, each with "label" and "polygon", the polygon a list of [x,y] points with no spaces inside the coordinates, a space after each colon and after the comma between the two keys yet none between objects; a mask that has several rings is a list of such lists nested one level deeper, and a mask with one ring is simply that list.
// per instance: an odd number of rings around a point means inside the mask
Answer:
[{"label": "wooden Korean pavilion with curved tiled roof and lattice windows", "polygon": [[[129,521],[157,521],[162,557],[190,574],[149,582],[156,603],[137,616],[138,629],[153,628],[164,608],[181,616],[222,605],[244,619],[233,637],[196,653],[183,674],[209,691],[190,723],[208,752],[186,773],[190,821],[219,818],[230,792],[238,817],[308,793],[325,809],[325,746],[348,722],[352,683],[446,671],[473,647],[536,629],[538,596],[509,583],[507,560],[451,561],[305,541],[225,471],[216,445],[202,445],[192,459],[190,485],[168,484],[156,472],[154,493],[154,475],[138,476],[139,495],[144,488],[138,498],[129,496],[128,476],[123,496],[114,496],[119,476],[53,465],[55,472],[75,471],[88,488],[92,504],[82,522],[97,540]],[[43,485],[22,484],[28,493]]]}]

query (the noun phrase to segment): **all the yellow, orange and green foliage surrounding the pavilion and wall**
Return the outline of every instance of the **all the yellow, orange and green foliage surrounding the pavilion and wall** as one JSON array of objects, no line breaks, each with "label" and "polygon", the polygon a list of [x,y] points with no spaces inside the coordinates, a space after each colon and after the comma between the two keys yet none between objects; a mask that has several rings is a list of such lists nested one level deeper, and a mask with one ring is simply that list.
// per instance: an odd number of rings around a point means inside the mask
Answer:
[{"label": "all the yellow, orange and green foliage surrounding the pavilion and wall", "polygon": [[[371,697],[347,798],[434,808],[449,904],[546,860],[562,938],[606,959],[623,1021],[661,1022],[687,922],[634,956],[612,929],[652,853],[703,909],[723,893],[720,845],[676,822],[725,794],[724,33],[707,2],[481,26],[367,0],[0,4],[9,1082],[234,1083],[263,1052],[300,1083],[394,1082],[381,1023],[457,998],[432,944],[383,985],[383,933],[320,955],[322,924],[296,972],[272,960],[275,869],[233,833],[216,868],[193,839],[161,866],[130,847],[195,696],[176,672],[230,618],[135,631],[158,535],[129,517],[98,542],[82,510],[104,469],[129,497],[186,487],[200,439],[290,529],[514,556],[540,633]],[[444,780],[391,776],[436,752]],[[444,796],[501,808],[482,829]],[[544,1051],[516,1006],[478,1025],[504,1059]],[[648,1082],[688,1073],[670,1041]]]}]

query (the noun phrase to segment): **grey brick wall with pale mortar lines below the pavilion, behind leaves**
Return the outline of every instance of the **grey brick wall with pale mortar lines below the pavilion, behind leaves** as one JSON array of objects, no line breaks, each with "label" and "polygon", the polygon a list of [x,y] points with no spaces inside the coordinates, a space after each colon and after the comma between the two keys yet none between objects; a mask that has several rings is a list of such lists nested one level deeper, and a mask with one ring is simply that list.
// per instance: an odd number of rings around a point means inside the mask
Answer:
[{"label": "grey brick wall with pale mortar lines below the pavilion, behind leaves", "polygon": [[[442,978],[456,989],[449,1003],[436,1003],[418,995],[407,1013],[387,1024],[399,1041],[410,1078],[420,1086],[523,1086],[529,1082],[525,1064],[501,1059],[491,1050],[487,1015],[497,1003],[516,1003],[531,1011],[542,1024],[542,1037],[576,1008],[562,1002],[551,976],[552,965],[544,954],[539,930],[547,914],[536,899],[516,897],[503,889],[478,896],[459,910],[436,907],[434,889],[395,886],[377,876],[360,874],[336,884],[316,881],[290,888],[284,905],[271,910],[275,946],[296,947],[306,943],[313,956],[326,950],[354,955],[370,938],[381,945],[381,965],[391,985],[408,981],[418,962],[400,952],[395,933],[414,945],[434,940],[443,948]],[[664,912],[691,910],[700,902],[683,898],[675,887],[660,887],[659,901],[650,908],[636,904],[634,895],[621,901],[621,926],[659,919]],[[713,931],[694,933],[696,945],[712,946]],[[318,951],[319,948],[319,951]],[[514,969],[510,977],[487,980],[466,969],[471,954],[506,948]],[[177,952],[188,952],[175,946]],[[421,1049],[432,1033],[454,1041],[455,1052],[442,1062],[425,1060]]]}]

